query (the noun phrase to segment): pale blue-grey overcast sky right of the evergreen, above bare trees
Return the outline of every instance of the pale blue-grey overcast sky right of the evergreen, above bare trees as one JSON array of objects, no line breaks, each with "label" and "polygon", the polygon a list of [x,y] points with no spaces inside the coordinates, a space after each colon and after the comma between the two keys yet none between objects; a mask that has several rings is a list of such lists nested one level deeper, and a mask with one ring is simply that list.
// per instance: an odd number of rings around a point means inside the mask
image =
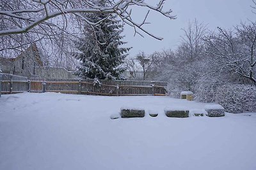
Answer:
[{"label": "pale blue-grey overcast sky right of the evergreen, above bare trees", "polygon": [[[157,1],[148,0],[150,4]],[[146,34],[144,34],[145,38],[139,35],[134,37],[134,30],[128,26],[125,26],[126,38],[124,40],[128,42],[127,46],[133,47],[130,51],[131,57],[140,51],[150,54],[170,48],[175,50],[181,41],[180,36],[184,34],[181,29],[188,26],[189,20],[193,21],[196,18],[198,22],[208,24],[211,31],[216,30],[216,27],[228,29],[241,21],[248,21],[248,19],[255,21],[256,14],[252,13],[250,7],[252,5],[252,0],[168,0],[165,8],[171,8],[177,19],[170,20],[157,13],[150,13],[148,21],[152,24],[145,27],[154,35],[163,37],[162,41]],[[140,8],[135,8],[133,10],[134,20],[141,21],[145,12]]]}]

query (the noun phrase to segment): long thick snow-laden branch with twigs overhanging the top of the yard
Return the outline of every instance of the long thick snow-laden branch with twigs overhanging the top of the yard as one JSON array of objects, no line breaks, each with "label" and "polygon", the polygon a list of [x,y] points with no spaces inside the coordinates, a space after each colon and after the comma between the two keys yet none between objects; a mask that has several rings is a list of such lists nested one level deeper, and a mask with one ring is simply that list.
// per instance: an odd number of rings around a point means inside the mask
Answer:
[{"label": "long thick snow-laden branch with twigs overhanging the top of the yard", "polygon": [[[4,20],[4,26],[1,28],[0,36],[22,34],[31,31],[34,27],[40,24],[49,24],[48,20],[58,17],[60,15],[76,14],[81,17],[80,13],[113,13],[120,17],[128,25],[134,27],[134,30],[140,29],[142,32],[156,38],[154,34],[143,29],[142,26],[146,24],[149,11],[156,11],[161,13],[164,17],[174,19],[175,16],[171,15],[172,10],[164,11],[163,6],[166,0],[161,0],[156,6],[150,6],[141,0],[119,0],[111,1],[108,6],[97,6],[93,1],[83,2],[81,0],[70,1],[43,1],[43,0],[19,0],[22,6],[15,6],[16,8],[6,8],[10,6],[8,1],[3,1],[1,4],[0,15]],[[148,12],[145,15],[145,20],[142,23],[137,23],[132,19],[131,8],[132,6],[140,6],[147,8]],[[83,17],[81,17],[83,18]],[[83,18],[85,20],[85,18]],[[88,22],[88,20],[87,20]],[[100,21],[99,21],[100,22]],[[8,24],[8,25],[7,25]],[[90,23],[88,24],[98,24]],[[49,27],[51,25],[49,24]]]}]

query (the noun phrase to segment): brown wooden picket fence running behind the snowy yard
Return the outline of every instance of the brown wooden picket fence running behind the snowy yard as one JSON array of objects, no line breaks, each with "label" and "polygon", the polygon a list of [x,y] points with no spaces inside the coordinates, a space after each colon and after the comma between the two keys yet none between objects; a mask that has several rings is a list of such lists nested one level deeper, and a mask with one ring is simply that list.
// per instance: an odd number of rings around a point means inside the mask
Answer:
[{"label": "brown wooden picket fence running behind the snowy yard", "polygon": [[[2,87],[1,87],[2,83]],[[121,81],[92,79],[31,78],[2,74],[0,93],[61,92],[63,94],[89,94],[99,96],[140,96],[166,94],[167,83],[163,81]]]}]

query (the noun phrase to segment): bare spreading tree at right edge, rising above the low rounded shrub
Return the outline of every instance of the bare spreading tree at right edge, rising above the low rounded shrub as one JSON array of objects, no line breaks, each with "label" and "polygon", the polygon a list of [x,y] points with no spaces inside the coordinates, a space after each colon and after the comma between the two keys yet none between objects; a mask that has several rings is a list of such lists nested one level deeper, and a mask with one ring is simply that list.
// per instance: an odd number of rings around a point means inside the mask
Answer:
[{"label": "bare spreading tree at right edge, rising above the low rounded shrub", "polygon": [[221,67],[222,73],[235,73],[256,85],[256,23],[241,24],[235,31],[218,28],[206,40],[207,52]]}]

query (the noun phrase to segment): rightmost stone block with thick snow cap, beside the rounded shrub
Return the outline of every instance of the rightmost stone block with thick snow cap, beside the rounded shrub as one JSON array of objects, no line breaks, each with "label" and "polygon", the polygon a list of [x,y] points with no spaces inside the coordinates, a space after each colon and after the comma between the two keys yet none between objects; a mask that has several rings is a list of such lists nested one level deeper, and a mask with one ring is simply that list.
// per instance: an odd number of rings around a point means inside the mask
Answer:
[{"label": "rightmost stone block with thick snow cap, beside the rounded shrub", "polygon": [[225,110],[220,104],[207,104],[204,106],[208,117],[224,117]]}]

